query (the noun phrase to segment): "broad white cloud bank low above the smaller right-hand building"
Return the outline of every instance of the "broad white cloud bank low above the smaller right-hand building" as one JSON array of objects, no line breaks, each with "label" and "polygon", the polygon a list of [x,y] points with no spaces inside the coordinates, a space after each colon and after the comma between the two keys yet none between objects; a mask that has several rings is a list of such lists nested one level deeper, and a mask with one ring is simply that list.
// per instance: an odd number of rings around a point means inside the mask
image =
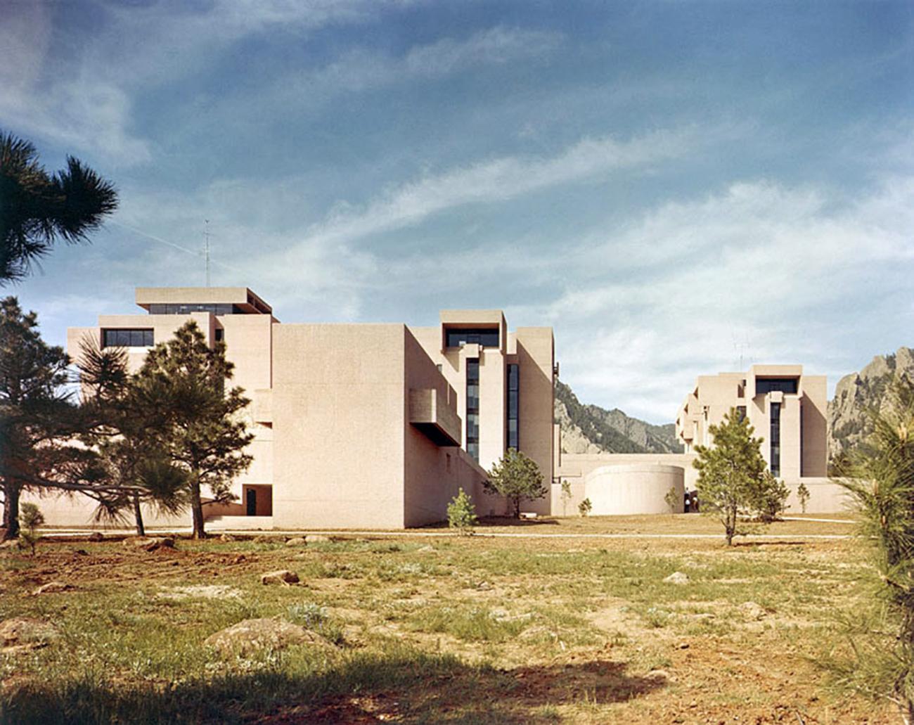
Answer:
[{"label": "broad white cloud bank low above the smaller right-hand building", "polygon": [[[747,366],[800,362],[834,386],[860,349],[882,352],[858,325],[880,299],[908,300],[912,240],[914,178],[850,202],[738,183],[579,249],[568,259],[588,264],[566,266],[565,293],[518,312],[556,327],[563,374],[583,400],[669,421],[696,375],[737,368],[740,355]],[[829,313],[845,330],[829,336]],[[911,317],[903,305],[898,315]]]}]

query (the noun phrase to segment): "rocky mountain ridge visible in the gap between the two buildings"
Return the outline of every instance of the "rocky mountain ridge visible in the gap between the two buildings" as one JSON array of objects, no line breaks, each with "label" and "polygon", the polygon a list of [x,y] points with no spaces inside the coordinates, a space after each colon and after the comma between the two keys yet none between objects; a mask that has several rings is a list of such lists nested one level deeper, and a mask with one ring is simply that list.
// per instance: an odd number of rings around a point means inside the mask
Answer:
[{"label": "rocky mountain ridge visible in the gap between the two buildings", "polygon": [[619,409],[583,405],[568,385],[556,383],[556,421],[563,453],[682,453],[675,426],[653,425]]}]

